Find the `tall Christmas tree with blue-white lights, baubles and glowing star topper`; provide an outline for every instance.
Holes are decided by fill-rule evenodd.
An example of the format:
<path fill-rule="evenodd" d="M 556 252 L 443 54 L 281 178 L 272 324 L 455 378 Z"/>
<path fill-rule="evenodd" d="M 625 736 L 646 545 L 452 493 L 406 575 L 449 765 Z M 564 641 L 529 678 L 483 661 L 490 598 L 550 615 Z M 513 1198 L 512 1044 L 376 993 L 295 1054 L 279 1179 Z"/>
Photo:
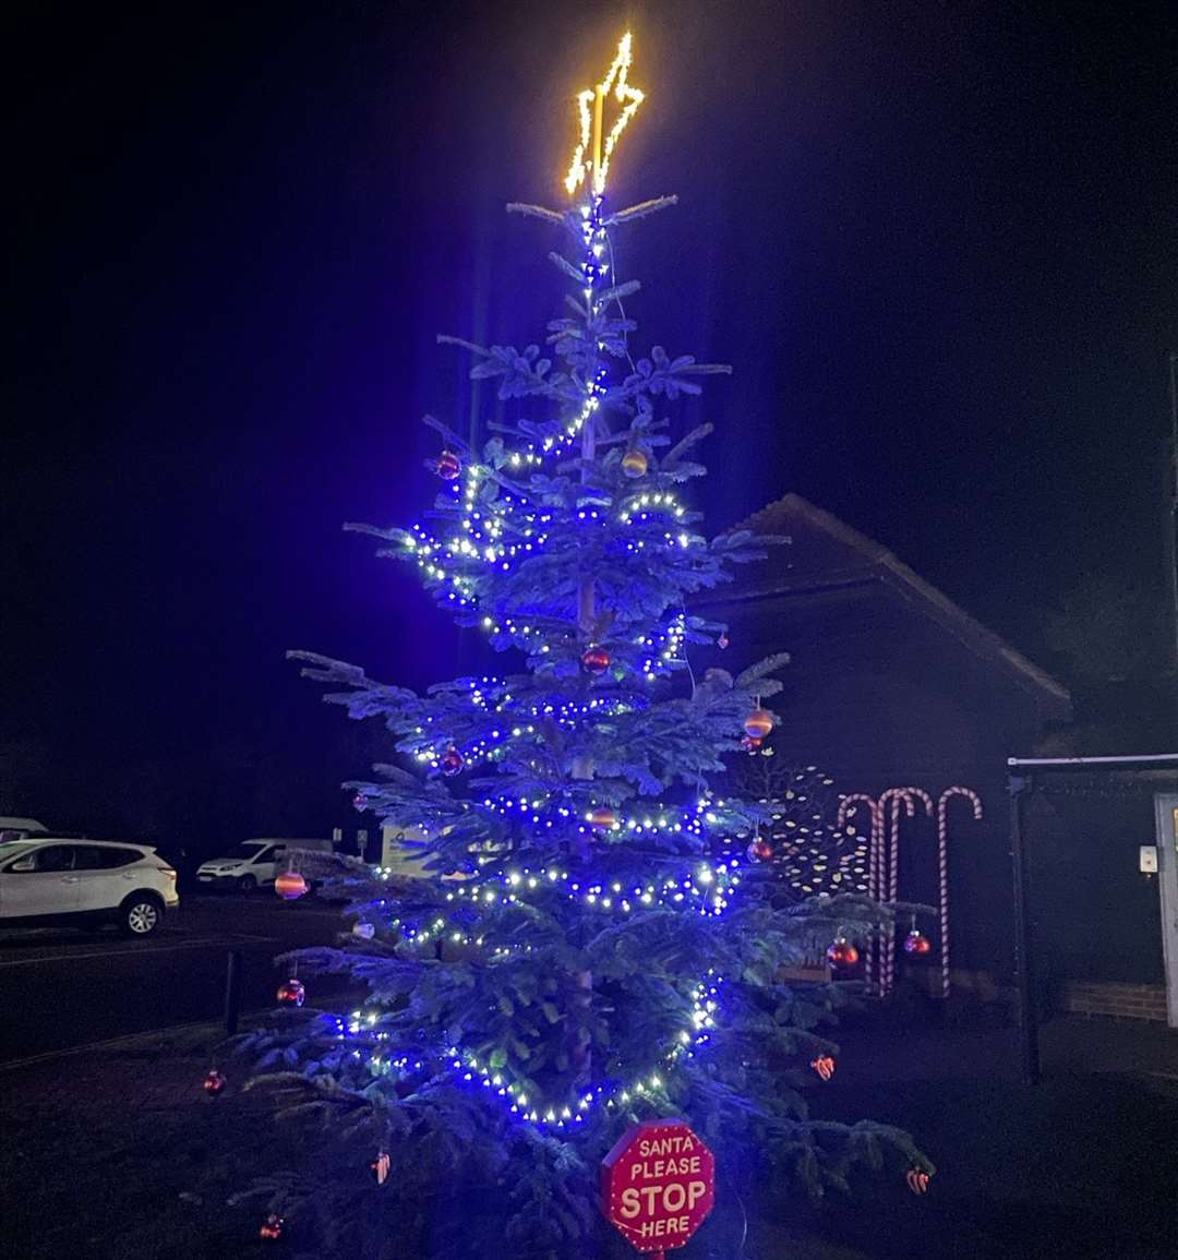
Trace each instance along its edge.
<path fill-rule="evenodd" d="M 442 339 L 514 415 L 481 449 L 427 418 L 443 484 L 425 523 L 349 527 L 416 566 L 505 668 L 420 696 L 294 654 L 394 737 L 398 760 L 349 790 L 417 837 L 421 866 L 357 866 L 350 934 L 295 960 L 350 975 L 362 1005 L 291 1012 L 248 1042 L 286 1106 L 326 1120 L 304 1167 L 260 1183 L 319 1255 L 593 1254 L 598 1163 L 644 1118 L 692 1123 L 722 1198 L 763 1189 L 766 1169 L 820 1194 L 858 1162 L 929 1167 L 897 1130 L 809 1118 L 838 992 L 780 980 L 881 908 L 791 896 L 748 853 L 771 808 L 714 786 L 742 738 L 769 735 L 786 659 L 698 674 L 724 627 L 692 596 L 776 541 L 708 541 L 685 498 L 711 426 L 678 433 L 670 404 L 728 368 L 659 345 L 631 359 L 639 284 L 614 273 L 615 234 L 674 198 L 606 198 L 643 103 L 630 57 L 627 35 L 577 98 L 569 208 L 509 207 L 564 246 L 549 349 Z M 301 1004 L 301 985 L 285 997 Z"/>

